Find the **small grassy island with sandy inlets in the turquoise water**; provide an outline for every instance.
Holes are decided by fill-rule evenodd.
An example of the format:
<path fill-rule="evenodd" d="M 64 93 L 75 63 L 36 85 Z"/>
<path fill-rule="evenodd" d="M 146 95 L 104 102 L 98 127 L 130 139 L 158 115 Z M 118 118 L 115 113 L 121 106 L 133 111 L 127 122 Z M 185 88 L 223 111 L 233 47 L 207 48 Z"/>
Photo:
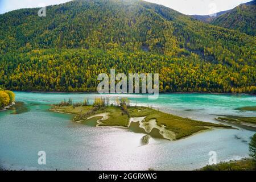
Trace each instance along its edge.
<path fill-rule="evenodd" d="M 195 121 L 163 113 L 150 107 L 130 106 L 127 98 L 118 98 L 115 104 L 109 104 L 108 98 L 95 98 L 92 105 L 88 100 L 53 105 L 51 111 L 73 114 L 73 121 L 96 127 L 122 127 L 135 133 L 145 134 L 143 143 L 148 139 L 162 138 L 178 140 L 214 127 L 232 128 L 216 123 Z"/>

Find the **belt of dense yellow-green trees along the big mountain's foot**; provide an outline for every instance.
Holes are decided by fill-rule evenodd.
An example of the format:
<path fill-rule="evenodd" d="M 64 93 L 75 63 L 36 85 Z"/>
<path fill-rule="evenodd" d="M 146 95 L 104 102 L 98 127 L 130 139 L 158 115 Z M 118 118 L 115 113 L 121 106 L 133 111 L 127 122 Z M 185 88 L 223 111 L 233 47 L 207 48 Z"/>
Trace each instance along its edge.
<path fill-rule="evenodd" d="M 13 61 L 15 60 L 15 61 Z M 101 49 L 40 49 L 6 53 L 0 63 L 0 82 L 12 90 L 97 90 L 99 73 L 160 73 L 161 92 L 255 93 L 253 65 L 212 64 L 190 56 Z"/>

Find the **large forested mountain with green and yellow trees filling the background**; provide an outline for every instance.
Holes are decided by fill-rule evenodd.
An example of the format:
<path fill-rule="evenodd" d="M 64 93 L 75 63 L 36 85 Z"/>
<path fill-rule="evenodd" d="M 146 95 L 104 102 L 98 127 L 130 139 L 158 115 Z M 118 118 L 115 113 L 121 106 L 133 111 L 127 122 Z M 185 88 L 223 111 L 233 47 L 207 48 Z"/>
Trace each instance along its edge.
<path fill-rule="evenodd" d="M 255 37 L 144 1 L 78 0 L 0 15 L 0 85 L 96 91 L 99 73 L 159 73 L 161 92 L 255 93 Z"/>

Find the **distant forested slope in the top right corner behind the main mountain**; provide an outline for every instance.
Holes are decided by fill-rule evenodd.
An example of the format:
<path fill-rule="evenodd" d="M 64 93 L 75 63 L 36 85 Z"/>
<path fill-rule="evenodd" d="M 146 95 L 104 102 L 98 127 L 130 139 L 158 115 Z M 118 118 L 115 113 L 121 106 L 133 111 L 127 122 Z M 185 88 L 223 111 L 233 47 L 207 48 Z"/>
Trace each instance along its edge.
<path fill-rule="evenodd" d="M 212 24 L 256 35 L 256 0 L 237 6 L 213 19 Z"/>

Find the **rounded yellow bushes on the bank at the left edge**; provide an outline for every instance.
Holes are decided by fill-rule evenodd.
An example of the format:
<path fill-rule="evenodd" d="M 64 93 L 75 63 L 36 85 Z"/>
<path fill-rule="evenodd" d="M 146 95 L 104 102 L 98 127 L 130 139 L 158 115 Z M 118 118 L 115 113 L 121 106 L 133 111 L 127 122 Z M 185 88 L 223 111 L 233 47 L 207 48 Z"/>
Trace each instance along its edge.
<path fill-rule="evenodd" d="M 10 90 L 0 88 L 0 110 L 10 106 L 15 101 L 15 94 Z"/>

